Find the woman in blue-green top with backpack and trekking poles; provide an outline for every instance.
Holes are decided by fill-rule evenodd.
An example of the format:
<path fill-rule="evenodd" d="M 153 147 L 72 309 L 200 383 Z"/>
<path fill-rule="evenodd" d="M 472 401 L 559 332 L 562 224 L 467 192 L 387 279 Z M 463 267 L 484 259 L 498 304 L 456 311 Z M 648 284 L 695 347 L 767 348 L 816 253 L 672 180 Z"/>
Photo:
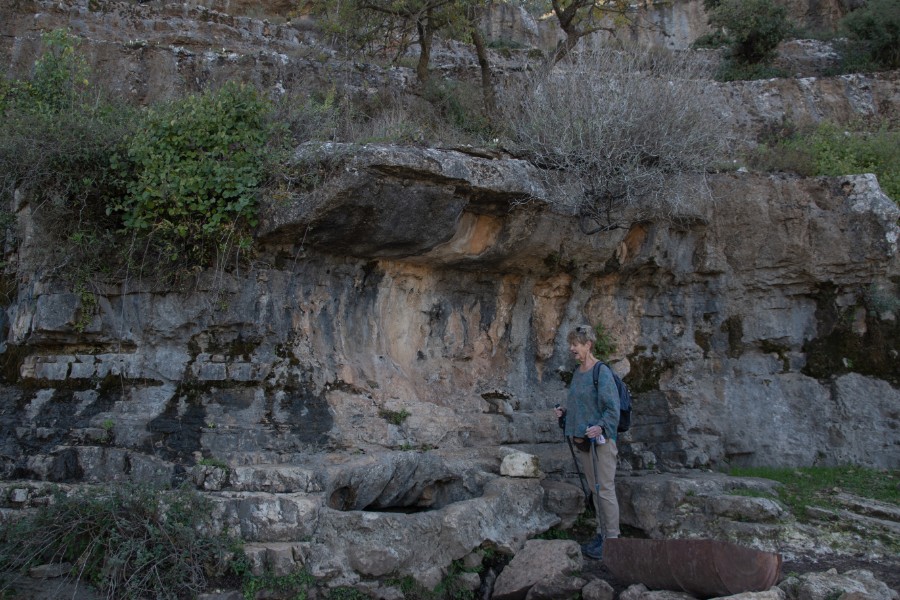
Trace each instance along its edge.
<path fill-rule="evenodd" d="M 569 332 L 567 340 L 578 368 L 572 374 L 566 407 L 557 405 L 556 417 L 565 415 L 565 434 L 578 448 L 578 460 L 593 492 L 597 536 L 581 550 L 589 558 L 600 559 L 603 540 L 619 537 L 615 485 L 619 393 L 609 367 L 594 357 L 594 329 L 579 325 Z"/>

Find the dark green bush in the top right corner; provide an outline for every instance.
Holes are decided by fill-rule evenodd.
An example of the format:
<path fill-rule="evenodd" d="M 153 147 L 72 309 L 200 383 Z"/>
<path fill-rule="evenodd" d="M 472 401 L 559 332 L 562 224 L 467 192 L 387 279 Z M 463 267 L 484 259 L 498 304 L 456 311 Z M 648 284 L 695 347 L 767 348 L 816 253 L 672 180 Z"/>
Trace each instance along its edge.
<path fill-rule="evenodd" d="M 900 3 L 869 0 L 841 21 L 853 45 L 849 58 L 883 69 L 900 68 Z"/>

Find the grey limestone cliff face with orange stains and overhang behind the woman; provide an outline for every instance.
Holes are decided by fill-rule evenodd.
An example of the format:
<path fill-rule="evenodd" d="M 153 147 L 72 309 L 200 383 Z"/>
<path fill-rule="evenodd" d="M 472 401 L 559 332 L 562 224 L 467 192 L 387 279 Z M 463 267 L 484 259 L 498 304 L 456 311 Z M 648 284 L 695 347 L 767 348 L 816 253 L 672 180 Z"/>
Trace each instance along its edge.
<path fill-rule="evenodd" d="M 75 295 L 23 282 L 6 476 L 510 444 L 552 471 L 583 322 L 636 392 L 634 467 L 900 464 L 900 213 L 872 177 L 719 175 L 689 220 L 588 237 L 521 161 L 329 148 L 338 175 L 266 209 L 250 270 L 106 290 L 81 334 Z"/>

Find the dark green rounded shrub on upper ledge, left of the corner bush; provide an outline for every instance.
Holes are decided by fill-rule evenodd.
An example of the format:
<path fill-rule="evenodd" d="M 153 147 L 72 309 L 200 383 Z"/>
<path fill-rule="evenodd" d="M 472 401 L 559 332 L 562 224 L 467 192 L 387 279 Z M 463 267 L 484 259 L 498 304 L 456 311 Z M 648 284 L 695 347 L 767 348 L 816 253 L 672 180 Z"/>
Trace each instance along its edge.
<path fill-rule="evenodd" d="M 750 64 L 771 60 L 792 29 L 787 9 L 774 0 L 722 0 L 709 23 L 725 35 L 731 58 Z"/>

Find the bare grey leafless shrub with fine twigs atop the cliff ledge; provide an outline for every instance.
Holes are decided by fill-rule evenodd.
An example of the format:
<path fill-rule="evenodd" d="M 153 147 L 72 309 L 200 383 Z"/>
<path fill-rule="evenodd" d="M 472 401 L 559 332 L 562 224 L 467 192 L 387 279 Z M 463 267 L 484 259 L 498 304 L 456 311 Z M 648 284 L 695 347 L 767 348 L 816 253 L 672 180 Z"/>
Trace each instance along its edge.
<path fill-rule="evenodd" d="M 606 47 L 511 89 L 511 149 L 542 168 L 585 233 L 683 215 L 705 198 L 722 129 L 705 66 L 686 53 Z"/>

